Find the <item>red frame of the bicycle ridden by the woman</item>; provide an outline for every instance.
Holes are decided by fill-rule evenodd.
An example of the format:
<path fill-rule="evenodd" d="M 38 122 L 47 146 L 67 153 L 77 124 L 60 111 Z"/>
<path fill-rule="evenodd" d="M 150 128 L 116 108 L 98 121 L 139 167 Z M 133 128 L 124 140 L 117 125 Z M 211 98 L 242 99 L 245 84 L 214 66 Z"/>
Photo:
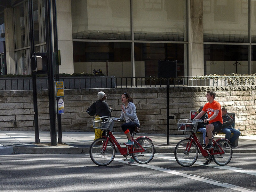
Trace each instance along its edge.
<path fill-rule="evenodd" d="M 103 138 L 107 138 L 106 143 L 103 143 L 103 146 L 102 146 L 103 150 L 106 150 L 106 146 L 107 146 L 106 144 L 108 143 L 108 141 L 110 141 L 114 145 L 115 148 L 117 147 L 117 149 L 119 150 L 119 152 L 123 156 L 125 156 L 125 155 L 127 156 L 127 155 L 129 155 L 131 153 L 142 153 L 142 152 L 145 152 L 145 149 L 137 141 L 139 138 L 147 138 L 148 140 L 151 140 L 149 137 L 145 137 L 145 136 L 140 136 L 140 137 L 136 138 L 134 140 L 134 145 L 139 146 L 139 148 L 134 148 L 134 151 L 132 151 L 132 148 L 133 148 L 134 145 L 126 146 L 126 148 L 121 147 L 119 142 L 116 140 L 115 136 L 113 135 L 113 133 L 111 131 L 108 131 L 107 137 L 103 136 Z M 133 138 L 133 135 L 132 135 L 132 138 Z"/>

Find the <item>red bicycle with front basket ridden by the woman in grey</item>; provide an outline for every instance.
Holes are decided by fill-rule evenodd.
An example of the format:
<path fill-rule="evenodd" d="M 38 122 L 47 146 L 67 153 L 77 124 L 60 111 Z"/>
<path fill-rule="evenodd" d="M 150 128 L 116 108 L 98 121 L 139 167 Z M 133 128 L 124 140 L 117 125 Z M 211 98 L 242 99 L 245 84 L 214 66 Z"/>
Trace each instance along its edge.
<path fill-rule="evenodd" d="M 116 155 L 116 148 L 125 157 L 131 155 L 139 164 L 149 163 L 155 155 L 155 147 L 149 137 L 140 136 L 134 140 L 134 145 L 121 147 L 113 135 L 113 126 L 115 121 L 120 119 L 115 117 L 95 117 L 93 128 L 106 130 L 106 137 L 94 140 L 90 147 L 90 157 L 92 162 L 99 166 L 110 164 Z M 136 132 L 132 133 L 132 139 Z"/>

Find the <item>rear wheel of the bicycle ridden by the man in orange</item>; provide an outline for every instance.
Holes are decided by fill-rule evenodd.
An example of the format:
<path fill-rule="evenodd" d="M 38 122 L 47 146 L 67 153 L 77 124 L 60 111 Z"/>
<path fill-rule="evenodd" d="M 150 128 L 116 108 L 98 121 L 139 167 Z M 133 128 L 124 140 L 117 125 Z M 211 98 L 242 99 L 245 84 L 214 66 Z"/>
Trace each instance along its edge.
<path fill-rule="evenodd" d="M 230 143 L 225 139 L 220 139 L 216 142 L 220 145 L 220 147 L 223 149 L 223 151 L 225 153 L 213 155 L 213 161 L 217 165 L 226 165 L 230 162 L 230 160 L 232 158 L 232 154 L 233 154 L 232 147 L 231 147 Z M 220 150 L 219 146 L 217 144 L 214 144 L 213 153 L 218 153 L 220 151 L 221 150 Z"/>

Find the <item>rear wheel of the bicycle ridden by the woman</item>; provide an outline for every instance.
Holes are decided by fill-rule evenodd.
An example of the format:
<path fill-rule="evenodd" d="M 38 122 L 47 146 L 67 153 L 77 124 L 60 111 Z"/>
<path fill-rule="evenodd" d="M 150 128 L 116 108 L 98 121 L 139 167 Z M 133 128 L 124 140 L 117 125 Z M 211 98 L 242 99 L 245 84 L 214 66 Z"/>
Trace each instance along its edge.
<path fill-rule="evenodd" d="M 155 155 L 155 147 L 154 144 L 151 140 L 149 140 L 148 138 L 139 138 L 138 143 L 140 143 L 141 147 L 143 147 L 145 149 L 144 152 L 138 152 L 138 153 L 132 153 L 132 157 L 133 159 L 139 163 L 139 164 L 147 164 L 149 163 L 154 155 Z M 138 146 L 138 144 L 136 144 L 136 142 L 134 142 L 135 144 L 132 147 L 132 151 L 136 151 L 136 150 L 140 150 L 141 148 Z"/>

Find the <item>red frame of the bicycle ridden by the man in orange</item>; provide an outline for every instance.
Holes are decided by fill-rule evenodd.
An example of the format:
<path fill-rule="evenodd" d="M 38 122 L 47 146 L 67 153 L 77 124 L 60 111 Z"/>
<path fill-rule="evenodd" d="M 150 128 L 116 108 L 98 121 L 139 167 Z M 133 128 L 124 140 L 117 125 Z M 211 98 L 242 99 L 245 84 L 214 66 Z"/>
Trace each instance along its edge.
<path fill-rule="evenodd" d="M 212 139 L 213 146 L 217 145 L 217 147 L 220 149 L 219 152 L 215 152 L 215 153 L 213 153 L 213 148 L 209 149 L 209 150 L 204 149 L 203 146 L 201 145 L 200 141 L 196 137 L 196 134 L 194 132 L 191 132 L 190 133 L 190 137 L 187 138 L 187 139 L 191 140 L 191 142 L 189 142 L 189 146 L 187 146 L 187 148 L 188 148 L 187 150 L 189 151 L 189 149 L 191 148 L 191 145 L 192 145 L 192 141 L 194 141 L 196 143 L 196 147 L 199 149 L 199 151 L 201 152 L 202 156 L 204 156 L 204 157 L 207 157 L 207 156 L 210 156 L 210 155 L 217 155 L 217 154 L 221 155 L 221 154 L 225 153 L 225 151 L 220 147 L 220 145 L 217 142 L 221 138 L 216 140 L 216 141 L 214 139 Z"/>

